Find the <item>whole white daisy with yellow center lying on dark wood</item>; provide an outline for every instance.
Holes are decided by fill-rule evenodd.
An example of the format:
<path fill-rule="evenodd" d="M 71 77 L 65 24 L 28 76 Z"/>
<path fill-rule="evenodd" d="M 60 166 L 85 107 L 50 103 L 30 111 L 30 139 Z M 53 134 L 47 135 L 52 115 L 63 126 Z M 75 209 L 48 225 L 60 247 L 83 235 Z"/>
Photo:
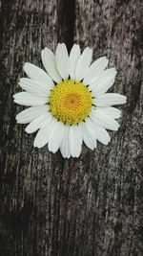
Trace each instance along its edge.
<path fill-rule="evenodd" d="M 29 78 L 22 78 L 19 85 L 25 91 L 16 93 L 14 102 L 28 105 L 16 116 L 17 123 L 30 123 L 28 133 L 38 130 L 33 146 L 49 151 L 60 149 L 63 157 L 78 157 L 82 143 L 93 150 L 96 141 L 107 145 L 111 138 L 107 131 L 117 130 L 115 119 L 121 111 L 112 105 L 123 105 L 126 97 L 107 93 L 116 71 L 107 68 L 106 57 L 92 62 L 92 49 L 81 54 L 77 44 L 70 56 L 64 43 L 57 45 L 55 55 L 49 48 L 42 53 L 47 72 L 26 62 L 24 71 Z M 92 64 L 91 64 L 92 62 Z"/>

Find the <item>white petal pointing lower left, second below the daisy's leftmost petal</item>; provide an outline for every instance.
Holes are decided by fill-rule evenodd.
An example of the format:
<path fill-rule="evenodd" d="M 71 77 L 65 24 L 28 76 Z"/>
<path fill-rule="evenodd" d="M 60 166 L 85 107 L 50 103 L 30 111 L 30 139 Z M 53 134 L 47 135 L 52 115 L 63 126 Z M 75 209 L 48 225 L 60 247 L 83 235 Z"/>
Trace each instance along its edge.
<path fill-rule="evenodd" d="M 44 113 L 31 121 L 30 125 L 25 129 L 28 133 L 36 131 L 38 128 L 44 128 L 51 121 L 51 114 Z"/>

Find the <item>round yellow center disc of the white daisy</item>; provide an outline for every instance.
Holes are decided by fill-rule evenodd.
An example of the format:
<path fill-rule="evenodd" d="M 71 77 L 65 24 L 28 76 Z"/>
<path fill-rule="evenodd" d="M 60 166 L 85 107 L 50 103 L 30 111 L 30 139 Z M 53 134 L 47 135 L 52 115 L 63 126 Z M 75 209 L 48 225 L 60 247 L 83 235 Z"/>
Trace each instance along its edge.
<path fill-rule="evenodd" d="M 60 81 L 53 87 L 49 103 L 55 118 L 67 125 L 75 125 L 91 112 L 92 93 L 83 82 Z"/>

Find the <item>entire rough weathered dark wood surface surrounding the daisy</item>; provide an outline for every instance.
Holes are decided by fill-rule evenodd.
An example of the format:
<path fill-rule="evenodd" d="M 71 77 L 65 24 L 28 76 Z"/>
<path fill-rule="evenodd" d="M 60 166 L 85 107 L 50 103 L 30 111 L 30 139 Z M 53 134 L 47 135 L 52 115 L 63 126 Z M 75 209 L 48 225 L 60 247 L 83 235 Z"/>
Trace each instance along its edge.
<path fill-rule="evenodd" d="M 128 96 L 110 145 L 63 159 L 16 125 L 22 65 L 57 41 L 93 48 Z M 141 1 L 1 0 L 0 255 L 141 256 Z"/>

